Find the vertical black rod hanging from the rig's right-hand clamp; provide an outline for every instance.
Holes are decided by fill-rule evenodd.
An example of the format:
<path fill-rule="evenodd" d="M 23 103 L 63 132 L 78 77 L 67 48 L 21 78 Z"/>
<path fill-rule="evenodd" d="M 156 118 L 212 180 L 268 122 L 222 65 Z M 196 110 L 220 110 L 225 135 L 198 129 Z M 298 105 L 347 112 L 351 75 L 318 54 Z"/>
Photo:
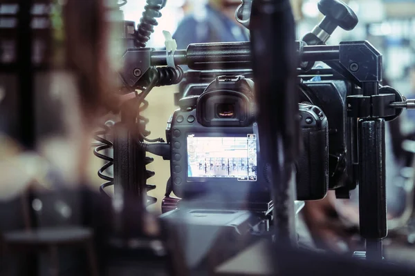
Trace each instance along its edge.
<path fill-rule="evenodd" d="M 367 258 L 380 260 L 387 235 L 385 119 L 360 119 L 358 129 L 360 235 L 367 241 Z"/>

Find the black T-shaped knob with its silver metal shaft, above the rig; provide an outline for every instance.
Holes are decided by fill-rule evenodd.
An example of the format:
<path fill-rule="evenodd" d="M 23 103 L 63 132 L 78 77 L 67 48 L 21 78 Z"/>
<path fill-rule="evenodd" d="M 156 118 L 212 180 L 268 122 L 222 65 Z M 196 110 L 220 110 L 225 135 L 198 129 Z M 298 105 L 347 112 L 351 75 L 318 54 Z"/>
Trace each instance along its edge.
<path fill-rule="evenodd" d="M 356 14 L 341 0 L 320 0 L 317 6 L 325 17 L 303 37 L 302 41 L 307 45 L 326 43 L 338 26 L 344 30 L 353 30 L 358 25 L 359 19 Z"/>

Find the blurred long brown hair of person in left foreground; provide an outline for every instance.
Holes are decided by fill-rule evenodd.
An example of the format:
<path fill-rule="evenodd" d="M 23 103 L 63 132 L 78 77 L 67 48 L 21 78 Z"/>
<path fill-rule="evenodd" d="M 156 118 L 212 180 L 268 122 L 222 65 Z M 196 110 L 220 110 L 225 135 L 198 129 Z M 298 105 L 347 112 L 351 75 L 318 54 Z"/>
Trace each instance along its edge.
<path fill-rule="evenodd" d="M 116 74 L 109 56 L 110 24 L 104 0 L 68 0 L 64 7 L 66 66 L 77 81 L 82 117 L 116 108 Z"/>

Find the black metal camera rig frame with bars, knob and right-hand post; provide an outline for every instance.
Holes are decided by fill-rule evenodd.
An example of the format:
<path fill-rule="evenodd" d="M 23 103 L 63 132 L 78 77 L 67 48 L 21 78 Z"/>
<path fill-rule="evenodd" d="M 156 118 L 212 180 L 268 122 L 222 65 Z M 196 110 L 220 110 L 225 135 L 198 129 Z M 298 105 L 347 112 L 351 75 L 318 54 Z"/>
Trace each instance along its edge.
<path fill-rule="evenodd" d="M 250 1 L 245 1 L 250 2 Z M 259 5 L 266 6 L 261 1 L 253 1 L 251 21 L 255 18 L 255 3 L 257 3 L 257 14 Z M 264 1 L 266 2 L 266 1 Z M 243 3 L 245 4 L 245 3 Z M 242 4 L 242 6 L 243 6 Z M 180 65 L 186 65 L 191 70 L 223 70 L 221 75 L 233 70 L 246 70 L 255 73 L 260 70 L 268 70 L 271 66 L 260 67 L 252 63 L 255 59 L 263 57 L 259 55 L 257 46 L 254 42 L 237 43 L 193 43 L 186 50 L 176 50 L 174 47 L 167 50 L 154 50 L 145 48 L 149 40 L 153 27 L 156 25 L 156 17 L 160 17 L 160 9 L 165 6 L 162 0 L 147 0 L 147 6 L 143 13 L 138 30 L 133 34 L 127 32 L 129 28 L 134 28 L 131 21 L 124 22 L 124 41 L 127 50 L 122 56 L 124 66 L 120 71 L 120 79 L 129 92 L 137 88 L 142 89 L 142 93 L 134 101 L 143 104 L 137 113 L 129 114 L 121 110 L 121 121 L 114 126 L 113 143 L 97 136 L 102 143 L 100 148 L 95 149 L 95 155 L 109 161 L 99 172 L 99 175 L 108 180 L 103 184 L 104 187 L 111 184 L 120 184 L 124 193 L 141 197 L 148 190 L 155 188 L 147 184 L 147 179 L 154 175 L 145 169 L 152 159 L 146 157 L 146 151 L 169 159 L 168 144 L 157 144 L 143 146 L 149 132 L 145 130 L 147 119 L 139 113 L 143 108 L 147 108 L 148 102 L 145 96 L 154 86 L 166 86 L 180 83 L 185 76 Z M 343 78 L 351 83 L 353 93 L 347 95 L 347 117 L 354 133 L 351 148 L 351 159 L 353 164 L 354 186 L 339 187 L 336 191 L 338 197 L 347 198 L 349 190 L 359 186 L 360 193 L 360 233 L 367 240 L 366 253 L 356 253 L 358 257 L 371 259 L 382 259 L 382 238 L 387 235 L 386 200 L 385 200 L 385 121 L 395 119 L 400 115 L 403 108 L 411 108 L 413 103 L 407 101 L 403 95 L 393 88 L 381 86 L 382 81 L 382 55 L 368 41 L 343 41 L 339 45 L 325 45 L 330 34 L 340 26 L 344 30 L 351 30 L 358 23 L 356 14 L 340 0 L 321 0 L 319 9 L 325 15 L 324 19 L 316 26 L 312 32 L 306 34 L 301 41 L 287 43 L 284 47 L 277 50 L 292 48 L 295 55 L 299 57 L 297 63 L 297 73 L 299 77 L 322 76 L 329 79 Z M 237 11 L 238 13 L 238 11 Z M 250 25 L 251 35 L 259 33 L 257 23 L 244 21 L 244 25 Z M 279 26 L 278 28 L 282 28 Z M 270 30 L 267 30 L 270 32 Z M 278 30 L 275 30 L 278 31 Z M 282 31 L 282 30 L 281 30 Z M 257 34 L 258 35 L 258 34 Z M 255 35 L 252 35 L 254 38 Z M 294 39 L 293 39 L 294 40 Z M 267 41 L 266 41 L 267 42 Z M 269 42 L 269 41 L 268 41 Z M 281 44 L 280 41 L 271 41 L 274 45 Z M 294 42 L 294 41 L 293 41 Z M 279 43 L 279 44 L 278 44 Z M 253 49 L 253 50 L 252 50 Z M 275 50 L 275 51 L 277 51 Z M 275 52 L 267 52 L 267 55 L 276 55 Z M 273 60 L 273 59 L 270 59 Z M 313 69 L 316 61 L 326 63 L 331 69 Z M 291 61 L 292 62 L 292 61 Z M 167 67 L 157 67 L 167 66 Z M 282 64 L 284 66 L 284 64 Z M 261 68 L 261 69 L 258 69 Z M 276 70 L 275 75 L 281 73 Z M 268 71 L 268 75 L 269 75 Z M 257 75 L 258 76 L 258 75 Z M 333 77 L 335 76 L 335 77 Z M 284 76 L 282 76 L 284 77 Z M 268 81 L 270 79 L 268 78 Z M 259 80 L 261 88 L 261 79 Z M 263 92 L 261 90 L 261 92 Z M 265 97 L 265 95 L 264 95 Z M 290 95 L 286 97 L 291 97 Z M 288 99 L 288 98 L 287 98 Z M 295 115 L 293 110 L 292 115 Z M 259 122 L 259 124 L 261 124 Z M 136 128 L 131 128 L 136 125 Z M 108 130 L 108 127 L 105 127 Z M 284 127 L 283 127 L 284 128 Z M 132 131 L 131 129 L 136 129 Z M 138 131 L 137 131 L 138 130 Z M 284 132 L 284 129 L 280 129 Z M 277 130 L 277 131 L 280 131 Z M 139 132 L 139 133 L 137 133 Z M 102 135 L 104 132 L 98 132 Z M 140 143 L 137 143 L 140 141 Z M 294 143 L 295 144 L 295 143 Z M 98 153 L 113 146 L 113 159 Z M 295 149 L 291 144 L 289 150 L 284 152 L 295 155 Z M 294 152 L 294 153 L 293 153 Z M 289 158 L 288 158 L 289 159 Z M 114 178 L 103 175 L 105 169 L 114 165 Z M 139 169 L 136 169 L 139 168 Z M 273 212 L 275 219 L 279 220 L 277 228 L 280 235 L 288 235 L 288 213 L 286 196 L 288 189 L 287 182 L 289 172 L 281 172 L 286 175 L 282 182 L 285 184 L 273 184 Z M 281 178 L 279 178 L 281 179 Z M 277 181 L 278 182 L 278 181 Z M 116 185 L 116 191 L 118 190 Z M 282 193 L 279 193 L 281 192 Z M 154 203 L 154 198 L 148 198 L 147 203 Z M 166 201 L 166 204 L 175 206 L 176 200 Z"/>

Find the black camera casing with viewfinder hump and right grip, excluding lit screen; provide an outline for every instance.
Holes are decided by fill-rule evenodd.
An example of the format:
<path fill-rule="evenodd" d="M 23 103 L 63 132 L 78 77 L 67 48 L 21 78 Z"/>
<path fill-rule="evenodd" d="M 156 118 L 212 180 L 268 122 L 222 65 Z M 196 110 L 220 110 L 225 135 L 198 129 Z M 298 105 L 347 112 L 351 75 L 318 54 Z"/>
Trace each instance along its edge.
<path fill-rule="evenodd" d="M 246 72 L 249 75 L 249 72 Z M 212 72 L 208 73 L 212 76 Z M 203 76 L 195 73 L 196 78 Z M 190 170 L 187 157 L 187 137 L 247 137 L 257 135 L 255 108 L 253 101 L 253 82 L 241 75 L 216 77 L 201 95 L 194 96 L 190 86 L 184 91 L 187 97 L 178 104 L 167 127 L 167 142 L 171 145 L 171 179 L 173 191 L 178 197 L 192 201 L 245 202 L 248 206 L 253 202 L 269 202 L 270 200 L 270 167 L 261 160 L 261 152 L 257 139 L 257 179 L 241 181 L 227 177 L 194 178 L 187 174 Z M 196 88 L 199 90 L 200 88 Z M 189 93 L 189 94 L 187 94 Z M 215 110 L 219 104 L 233 106 L 234 115 L 228 118 L 217 117 Z M 329 188 L 329 126 L 324 112 L 311 104 L 299 104 L 299 120 L 304 138 L 304 150 L 297 162 L 297 199 L 317 200 L 325 197 Z M 230 172 L 230 163 L 219 164 Z M 215 161 L 214 161 L 215 162 Z M 232 161 L 234 162 L 234 161 Z M 203 165 L 204 163 L 204 165 Z M 226 163 L 226 161 L 225 161 Z M 206 161 L 199 168 L 208 168 Z M 233 163 L 234 164 L 234 163 Z M 200 167 L 203 166 L 203 167 Z M 217 164 L 214 166 L 218 166 Z M 248 166 L 249 168 L 249 166 Z M 217 168 L 214 167 L 217 171 Z M 191 171 L 191 170 L 190 170 Z M 250 171 L 248 169 L 248 171 Z M 207 171 L 206 171 L 207 172 Z M 210 161 L 212 172 L 212 159 Z M 192 175 L 192 173 L 190 173 Z M 213 199 L 212 199 L 213 197 Z M 234 204 L 231 204 L 234 206 Z"/>

